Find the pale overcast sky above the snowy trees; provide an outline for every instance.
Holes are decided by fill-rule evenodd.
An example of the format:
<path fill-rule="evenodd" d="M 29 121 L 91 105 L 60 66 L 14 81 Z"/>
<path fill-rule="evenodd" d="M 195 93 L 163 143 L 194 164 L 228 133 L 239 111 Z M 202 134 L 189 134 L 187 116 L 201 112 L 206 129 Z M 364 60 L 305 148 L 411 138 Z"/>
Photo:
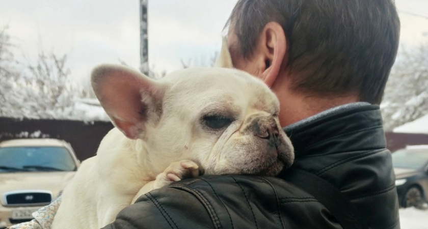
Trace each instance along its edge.
<path fill-rule="evenodd" d="M 148 0 L 149 66 L 168 72 L 208 62 L 219 50 L 223 26 L 236 0 Z M 396 0 L 402 43 L 428 39 L 428 1 Z M 0 0 L 0 28 L 17 58 L 40 50 L 69 55 L 76 79 L 87 80 L 100 63 L 140 64 L 139 0 Z"/>

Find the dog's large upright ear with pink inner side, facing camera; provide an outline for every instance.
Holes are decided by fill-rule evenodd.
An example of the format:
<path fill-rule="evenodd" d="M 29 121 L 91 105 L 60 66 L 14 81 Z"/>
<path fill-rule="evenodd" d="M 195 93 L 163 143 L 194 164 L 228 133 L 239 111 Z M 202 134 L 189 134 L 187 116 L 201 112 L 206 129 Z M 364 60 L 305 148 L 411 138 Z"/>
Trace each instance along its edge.
<path fill-rule="evenodd" d="M 163 84 L 119 65 L 94 68 L 91 83 L 113 124 L 128 138 L 138 138 L 148 122 L 161 118 Z"/>

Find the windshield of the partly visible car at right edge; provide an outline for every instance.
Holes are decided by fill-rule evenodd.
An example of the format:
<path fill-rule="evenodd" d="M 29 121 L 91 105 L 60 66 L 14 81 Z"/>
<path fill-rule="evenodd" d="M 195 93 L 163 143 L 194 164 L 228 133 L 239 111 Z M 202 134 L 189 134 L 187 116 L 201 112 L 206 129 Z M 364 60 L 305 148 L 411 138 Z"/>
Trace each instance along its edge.
<path fill-rule="evenodd" d="M 394 167 L 420 169 L 427 161 L 427 149 L 402 149 L 392 153 Z"/>

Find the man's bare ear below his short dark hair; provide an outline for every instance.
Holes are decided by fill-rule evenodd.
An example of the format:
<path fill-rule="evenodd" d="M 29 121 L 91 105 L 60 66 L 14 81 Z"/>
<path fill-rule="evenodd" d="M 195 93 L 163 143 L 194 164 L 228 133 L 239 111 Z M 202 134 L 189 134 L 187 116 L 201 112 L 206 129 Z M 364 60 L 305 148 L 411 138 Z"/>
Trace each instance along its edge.
<path fill-rule="evenodd" d="M 278 77 L 281 65 L 287 56 L 287 42 L 282 26 L 278 22 L 269 22 L 263 28 L 258 41 L 258 51 L 263 54 L 264 71 L 261 78 L 269 87 Z"/>

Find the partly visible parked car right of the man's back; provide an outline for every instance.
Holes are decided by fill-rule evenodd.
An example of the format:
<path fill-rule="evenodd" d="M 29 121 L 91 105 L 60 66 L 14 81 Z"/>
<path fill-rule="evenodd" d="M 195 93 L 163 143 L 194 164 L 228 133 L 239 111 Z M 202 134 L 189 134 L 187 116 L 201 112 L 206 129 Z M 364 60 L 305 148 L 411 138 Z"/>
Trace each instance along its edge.
<path fill-rule="evenodd" d="M 392 164 L 400 207 L 422 208 L 428 200 L 428 145 L 393 152 Z"/>

